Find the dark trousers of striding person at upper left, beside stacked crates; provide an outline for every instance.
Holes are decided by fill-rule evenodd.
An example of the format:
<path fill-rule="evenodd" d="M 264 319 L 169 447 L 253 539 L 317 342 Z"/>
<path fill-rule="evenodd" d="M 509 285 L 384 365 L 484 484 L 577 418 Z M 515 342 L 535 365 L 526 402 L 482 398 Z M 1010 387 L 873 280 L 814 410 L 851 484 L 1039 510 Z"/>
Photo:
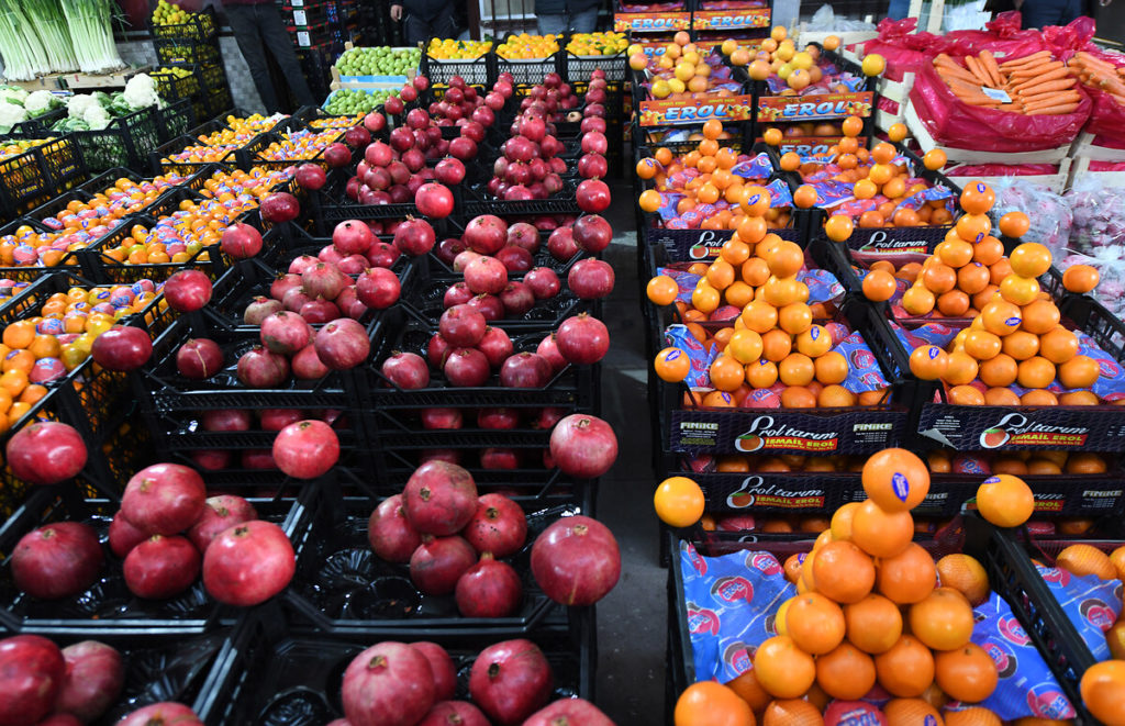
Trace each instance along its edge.
<path fill-rule="evenodd" d="M 250 76 L 254 79 L 254 87 L 266 106 L 267 114 L 277 114 L 281 110 L 277 90 L 270 79 L 270 69 L 266 63 L 266 48 L 277 61 L 281 73 L 289 84 L 289 89 L 297 98 L 298 106 L 316 106 L 313 92 L 308 90 L 305 74 L 297 62 L 297 54 L 292 51 L 292 38 L 285 29 L 281 20 L 281 12 L 273 3 L 260 4 L 232 4 L 226 7 L 226 18 L 234 31 L 234 37 L 238 42 L 238 48 L 246 65 L 250 66 Z M 236 103 L 237 106 L 237 103 Z"/>

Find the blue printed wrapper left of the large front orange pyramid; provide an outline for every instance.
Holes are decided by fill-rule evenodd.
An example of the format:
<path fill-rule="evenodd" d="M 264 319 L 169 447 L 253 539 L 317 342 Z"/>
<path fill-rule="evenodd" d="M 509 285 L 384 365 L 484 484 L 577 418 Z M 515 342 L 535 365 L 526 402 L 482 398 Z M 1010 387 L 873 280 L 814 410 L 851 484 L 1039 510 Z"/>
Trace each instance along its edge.
<path fill-rule="evenodd" d="M 732 681 L 750 670 L 754 651 L 776 635 L 774 616 L 796 588 L 768 552 L 704 557 L 685 542 L 680 568 L 695 679 Z"/>

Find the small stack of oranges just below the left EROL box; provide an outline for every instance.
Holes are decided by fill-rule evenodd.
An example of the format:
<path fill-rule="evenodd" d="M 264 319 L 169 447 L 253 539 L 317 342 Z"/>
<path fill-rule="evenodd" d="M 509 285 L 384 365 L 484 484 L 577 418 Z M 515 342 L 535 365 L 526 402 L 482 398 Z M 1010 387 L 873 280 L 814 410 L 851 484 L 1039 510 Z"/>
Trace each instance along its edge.
<path fill-rule="evenodd" d="M 655 189 L 640 193 L 640 208 L 655 212 L 663 203 L 660 192 L 675 192 L 683 197 L 676 202 L 677 217 L 666 223 L 669 228 L 677 228 L 680 223 L 683 223 L 681 228 L 688 229 L 737 230 L 744 224 L 756 229 L 762 221 L 766 227 L 788 226 L 788 209 L 767 208 L 760 219 L 752 219 L 752 215 L 747 214 L 742 200 L 748 194 L 765 190 L 757 184 L 748 184 L 749 180 L 730 171 L 748 157 L 739 155 L 730 146 L 719 145 L 721 139 L 728 137 L 729 133 L 722 124 L 710 119 L 703 124 L 702 138 L 695 151 L 677 157 L 670 149 L 660 147 L 654 156 L 640 160 L 637 175 L 646 181 L 652 180 L 655 184 Z M 768 203 L 768 193 L 766 200 Z M 747 234 L 753 237 L 749 232 Z"/>

